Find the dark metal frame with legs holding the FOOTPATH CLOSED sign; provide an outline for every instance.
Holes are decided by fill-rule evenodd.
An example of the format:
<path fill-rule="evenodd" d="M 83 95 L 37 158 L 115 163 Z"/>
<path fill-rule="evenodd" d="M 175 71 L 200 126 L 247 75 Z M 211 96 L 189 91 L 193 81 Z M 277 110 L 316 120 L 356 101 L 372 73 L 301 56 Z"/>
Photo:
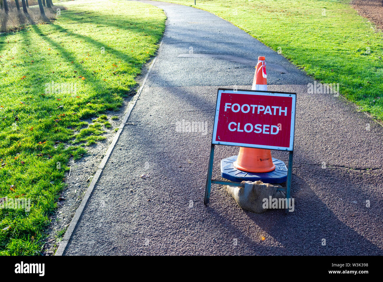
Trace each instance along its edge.
<path fill-rule="evenodd" d="M 287 182 L 286 182 L 286 188 L 278 188 L 277 191 L 285 191 L 286 192 L 286 199 L 288 200 L 288 203 L 290 203 L 290 194 L 291 194 L 291 177 L 292 177 L 292 170 L 293 170 L 293 154 L 294 154 L 294 133 L 295 133 L 295 108 L 296 108 L 296 93 L 292 92 L 278 92 L 278 91 L 259 91 L 259 90 L 243 90 L 243 89 L 229 89 L 229 88 L 219 88 L 217 91 L 217 100 L 216 100 L 216 109 L 215 109 L 215 115 L 214 115 L 214 129 L 213 129 L 213 134 L 211 136 L 211 144 L 210 144 L 210 157 L 209 157 L 209 166 L 208 166 L 208 175 L 206 179 L 206 187 L 205 187 L 205 198 L 203 203 L 207 205 L 210 202 L 210 192 L 211 192 L 211 184 L 220 184 L 220 185 L 231 185 L 231 186 L 240 186 L 241 183 L 239 182 L 233 182 L 233 181 L 224 181 L 224 180 L 216 180 L 216 179 L 211 179 L 212 174 L 213 174 L 213 160 L 214 160 L 214 147 L 215 145 L 226 145 L 226 146 L 238 146 L 238 145 L 233 145 L 233 144 L 228 144 L 224 143 L 221 144 L 219 142 L 214 143 L 214 132 L 216 132 L 216 125 L 218 123 L 218 112 L 217 112 L 217 102 L 218 102 L 218 95 L 219 91 L 234 91 L 234 92 L 239 92 L 239 91 L 245 91 L 245 92 L 262 92 L 262 93 L 278 93 L 278 94 L 288 94 L 288 95 L 294 95 L 293 99 L 293 107 L 294 107 L 294 115 L 291 115 L 291 130 L 292 130 L 292 148 L 270 148 L 270 150 L 281 150 L 281 151 L 288 151 L 289 156 L 288 156 L 288 170 L 287 170 Z M 271 95 L 271 94 L 268 94 Z M 293 96 L 292 96 L 293 97 Z M 218 107 L 219 111 L 219 107 Z M 291 137 L 291 136 L 290 136 Z M 248 144 L 247 144 L 248 145 Z M 242 146 L 242 145 L 241 145 Z M 242 147 L 249 147 L 249 146 L 242 146 Z M 250 147 L 250 148 L 260 148 L 260 149 L 265 149 L 265 147 Z M 267 148 L 268 149 L 268 148 Z M 288 208 L 285 208 L 285 213 L 288 213 Z"/>

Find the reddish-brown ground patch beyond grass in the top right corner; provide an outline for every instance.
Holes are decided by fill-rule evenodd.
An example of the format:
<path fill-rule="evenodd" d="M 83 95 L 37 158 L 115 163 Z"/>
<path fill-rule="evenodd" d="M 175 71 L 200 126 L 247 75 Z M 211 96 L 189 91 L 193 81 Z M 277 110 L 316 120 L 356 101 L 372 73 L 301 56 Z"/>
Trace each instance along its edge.
<path fill-rule="evenodd" d="M 383 0 L 352 0 L 351 5 L 359 15 L 375 23 L 377 28 L 383 29 Z"/>

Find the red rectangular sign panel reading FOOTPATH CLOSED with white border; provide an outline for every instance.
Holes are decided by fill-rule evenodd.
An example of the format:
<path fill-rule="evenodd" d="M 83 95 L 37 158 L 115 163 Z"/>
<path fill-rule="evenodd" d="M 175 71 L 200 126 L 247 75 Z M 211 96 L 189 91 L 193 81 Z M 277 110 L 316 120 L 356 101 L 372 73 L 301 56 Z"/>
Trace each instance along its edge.
<path fill-rule="evenodd" d="M 218 89 L 213 144 L 293 150 L 295 93 Z"/>

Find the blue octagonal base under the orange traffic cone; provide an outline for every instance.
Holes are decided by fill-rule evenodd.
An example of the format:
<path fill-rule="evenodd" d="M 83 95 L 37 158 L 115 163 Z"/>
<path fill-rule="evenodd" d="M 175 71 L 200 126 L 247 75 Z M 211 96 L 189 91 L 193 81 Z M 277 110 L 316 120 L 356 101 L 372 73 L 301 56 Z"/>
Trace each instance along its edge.
<path fill-rule="evenodd" d="M 233 163 L 237 160 L 238 156 L 231 156 L 221 160 L 221 176 L 230 181 L 258 181 L 262 180 L 264 183 L 283 183 L 287 180 L 287 167 L 284 162 L 276 158 L 273 159 L 275 170 L 265 173 L 244 172 L 234 167 Z"/>

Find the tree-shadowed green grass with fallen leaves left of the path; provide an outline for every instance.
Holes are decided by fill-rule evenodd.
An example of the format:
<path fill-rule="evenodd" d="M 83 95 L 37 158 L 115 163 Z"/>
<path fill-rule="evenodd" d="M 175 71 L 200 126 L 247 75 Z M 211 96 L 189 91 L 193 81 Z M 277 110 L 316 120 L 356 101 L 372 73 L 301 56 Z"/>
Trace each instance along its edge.
<path fill-rule="evenodd" d="M 29 212 L 0 209 L 1 255 L 40 254 L 69 158 L 105 138 L 106 110 L 129 97 L 165 28 L 143 3 L 64 5 L 52 24 L 0 36 L 0 197 L 31 199 Z M 47 91 L 52 81 L 76 91 Z"/>

